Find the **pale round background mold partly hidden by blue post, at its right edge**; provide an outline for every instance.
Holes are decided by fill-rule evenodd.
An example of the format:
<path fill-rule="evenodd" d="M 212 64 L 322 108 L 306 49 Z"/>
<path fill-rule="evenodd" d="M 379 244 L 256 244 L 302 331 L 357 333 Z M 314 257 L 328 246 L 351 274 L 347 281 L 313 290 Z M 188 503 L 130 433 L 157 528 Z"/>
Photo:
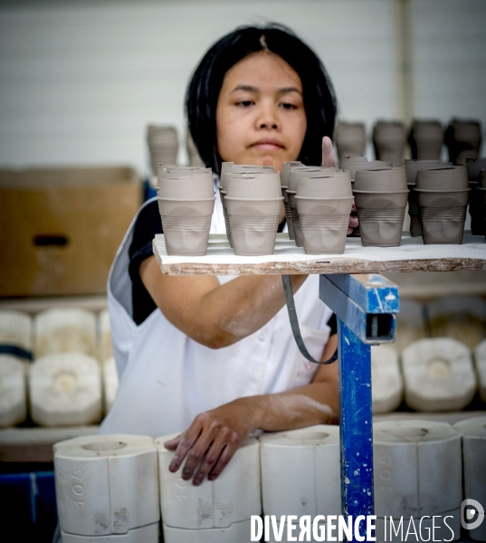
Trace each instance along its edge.
<path fill-rule="evenodd" d="M 404 382 L 398 353 L 387 345 L 371 347 L 373 413 L 389 413 L 402 402 Z"/>

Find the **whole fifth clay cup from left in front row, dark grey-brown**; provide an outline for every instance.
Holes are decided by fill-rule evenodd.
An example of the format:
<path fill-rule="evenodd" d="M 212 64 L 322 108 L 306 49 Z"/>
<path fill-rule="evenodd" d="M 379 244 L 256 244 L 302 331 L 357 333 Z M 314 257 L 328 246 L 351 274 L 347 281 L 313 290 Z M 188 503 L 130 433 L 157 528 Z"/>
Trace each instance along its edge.
<path fill-rule="evenodd" d="M 464 165 L 419 170 L 415 192 L 424 244 L 462 243 L 470 190 Z"/>

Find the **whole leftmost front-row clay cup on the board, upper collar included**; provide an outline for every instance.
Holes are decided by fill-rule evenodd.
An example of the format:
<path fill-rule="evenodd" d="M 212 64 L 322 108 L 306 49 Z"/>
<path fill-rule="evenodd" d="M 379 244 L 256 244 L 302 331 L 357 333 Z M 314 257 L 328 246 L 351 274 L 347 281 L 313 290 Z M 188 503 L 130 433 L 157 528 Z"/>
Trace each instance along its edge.
<path fill-rule="evenodd" d="M 167 254 L 205 255 L 214 200 L 211 168 L 159 165 L 157 203 Z"/>

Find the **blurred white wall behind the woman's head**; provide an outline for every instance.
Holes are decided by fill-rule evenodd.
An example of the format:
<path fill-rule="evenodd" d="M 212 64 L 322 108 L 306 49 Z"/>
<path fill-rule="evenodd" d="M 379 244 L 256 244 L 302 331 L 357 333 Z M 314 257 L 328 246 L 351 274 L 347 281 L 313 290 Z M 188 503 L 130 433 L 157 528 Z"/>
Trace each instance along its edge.
<path fill-rule="evenodd" d="M 3 3 L 0 167 L 123 163 L 145 173 L 146 125 L 175 124 L 182 136 L 186 84 L 208 46 L 239 24 L 267 20 L 310 43 L 341 118 L 369 129 L 401 111 L 397 1 Z M 484 119 L 486 2 L 412 2 L 416 113 Z"/>

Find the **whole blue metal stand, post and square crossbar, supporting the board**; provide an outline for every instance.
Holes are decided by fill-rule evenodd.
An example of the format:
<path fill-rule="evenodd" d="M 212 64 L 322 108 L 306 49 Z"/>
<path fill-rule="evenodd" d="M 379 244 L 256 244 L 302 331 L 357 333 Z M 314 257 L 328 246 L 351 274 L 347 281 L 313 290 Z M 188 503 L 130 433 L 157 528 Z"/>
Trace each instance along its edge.
<path fill-rule="evenodd" d="M 374 514 L 370 345 L 395 340 L 398 287 L 376 274 L 321 275 L 319 297 L 338 317 L 341 510 L 354 521 Z"/>

